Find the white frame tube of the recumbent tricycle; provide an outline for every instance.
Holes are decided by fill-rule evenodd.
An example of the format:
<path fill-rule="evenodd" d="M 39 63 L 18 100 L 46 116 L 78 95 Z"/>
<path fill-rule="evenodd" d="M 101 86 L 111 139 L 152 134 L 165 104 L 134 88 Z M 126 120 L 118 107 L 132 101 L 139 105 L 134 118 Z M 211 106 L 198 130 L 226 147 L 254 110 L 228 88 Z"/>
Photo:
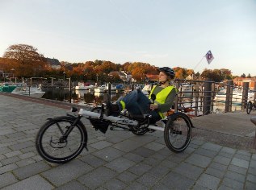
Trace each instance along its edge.
<path fill-rule="evenodd" d="M 105 114 L 101 114 L 101 113 L 94 113 L 91 111 L 87 111 L 85 109 L 80 109 L 78 112 L 78 115 L 81 115 L 85 118 L 95 118 L 95 119 L 99 119 L 99 120 L 107 120 L 115 125 L 125 125 L 125 126 L 138 126 L 139 122 L 137 122 L 136 120 L 132 120 L 132 119 L 128 119 L 128 118 L 121 118 L 121 117 L 115 117 L 115 116 L 107 116 Z M 160 131 L 164 131 L 165 128 L 164 127 L 160 127 L 160 126 L 154 126 L 154 125 L 149 125 L 148 126 L 149 129 L 152 130 L 160 130 Z"/>

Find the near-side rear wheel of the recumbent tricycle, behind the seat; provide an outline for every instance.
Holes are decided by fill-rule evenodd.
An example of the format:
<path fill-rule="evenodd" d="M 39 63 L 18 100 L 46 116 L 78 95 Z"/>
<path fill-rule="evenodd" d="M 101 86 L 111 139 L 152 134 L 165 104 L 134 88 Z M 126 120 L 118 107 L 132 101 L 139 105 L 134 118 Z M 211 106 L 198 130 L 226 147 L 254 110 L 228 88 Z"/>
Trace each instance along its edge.
<path fill-rule="evenodd" d="M 177 153 L 184 151 L 191 142 L 191 136 L 192 122 L 190 118 L 188 118 L 186 114 L 180 112 L 171 114 L 167 119 L 164 130 L 166 146 L 170 151 Z M 180 145 L 176 143 L 179 140 L 183 141 Z"/>

